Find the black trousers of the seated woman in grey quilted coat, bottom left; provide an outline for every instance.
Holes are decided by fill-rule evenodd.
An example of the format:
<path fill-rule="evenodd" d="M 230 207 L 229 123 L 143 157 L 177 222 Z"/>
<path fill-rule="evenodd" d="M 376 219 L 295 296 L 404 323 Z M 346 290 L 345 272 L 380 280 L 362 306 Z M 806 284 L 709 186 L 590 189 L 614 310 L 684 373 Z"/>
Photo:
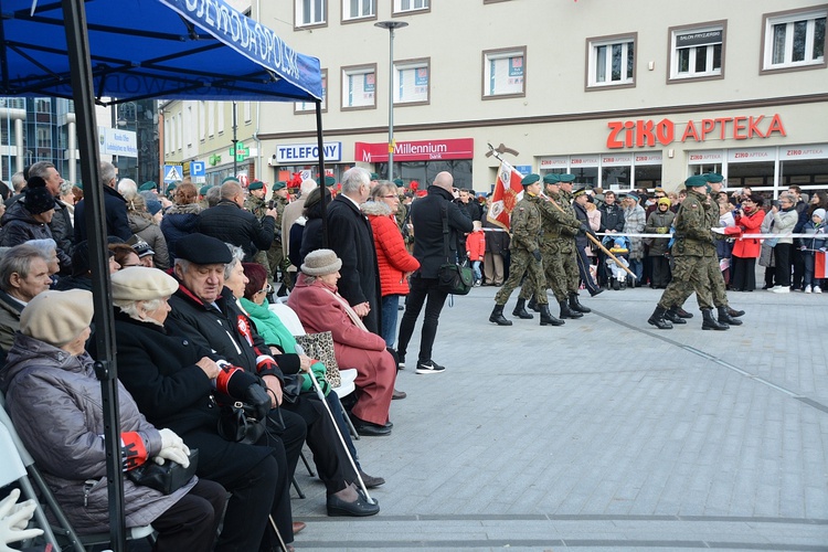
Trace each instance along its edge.
<path fill-rule="evenodd" d="M 215 481 L 199 479 L 190 492 L 156 518 L 155 552 L 210 552 L 221 523 L 227 491 Z"/>

